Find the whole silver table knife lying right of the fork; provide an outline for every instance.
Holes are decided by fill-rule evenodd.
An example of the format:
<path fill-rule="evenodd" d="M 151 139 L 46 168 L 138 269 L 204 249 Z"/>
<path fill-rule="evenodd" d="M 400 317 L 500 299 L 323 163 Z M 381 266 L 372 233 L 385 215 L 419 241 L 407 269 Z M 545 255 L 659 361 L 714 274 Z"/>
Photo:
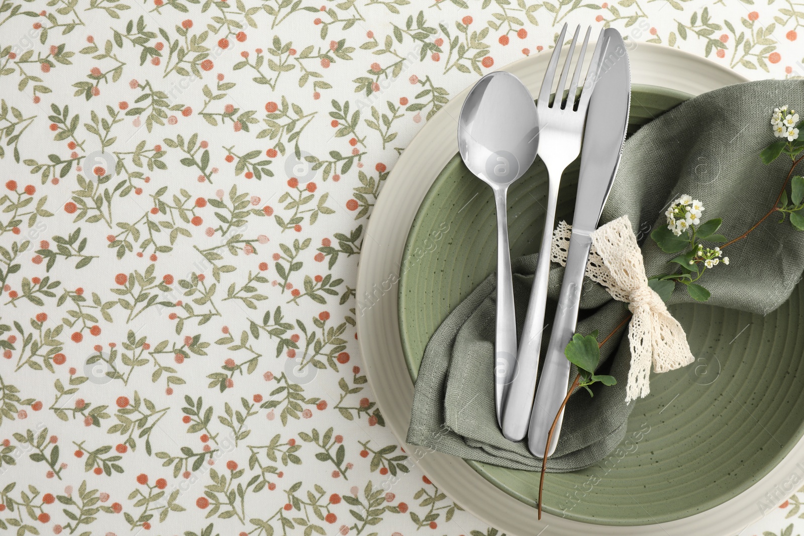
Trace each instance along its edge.
<path fill-rule="evenodd" d="M 601 39 L 607 39 L 607 43 L 597 70 L 595 90 L 589 100 L 567 267 L 528 429 L 528 448 L 539 457 L 544 456 L 548 432 L 567 395 L 570 362 L 564 356 L 564 347 L 575 333 L 580 291 L 592 246 L 590 235 L 597 229 L 603 205 L 617 174 L 628 128 L 631 75 L 626 44 L 613 28 L 607 28 Z M 556 450 L 563 420 L 562 411 L 548 456 Z"/>

